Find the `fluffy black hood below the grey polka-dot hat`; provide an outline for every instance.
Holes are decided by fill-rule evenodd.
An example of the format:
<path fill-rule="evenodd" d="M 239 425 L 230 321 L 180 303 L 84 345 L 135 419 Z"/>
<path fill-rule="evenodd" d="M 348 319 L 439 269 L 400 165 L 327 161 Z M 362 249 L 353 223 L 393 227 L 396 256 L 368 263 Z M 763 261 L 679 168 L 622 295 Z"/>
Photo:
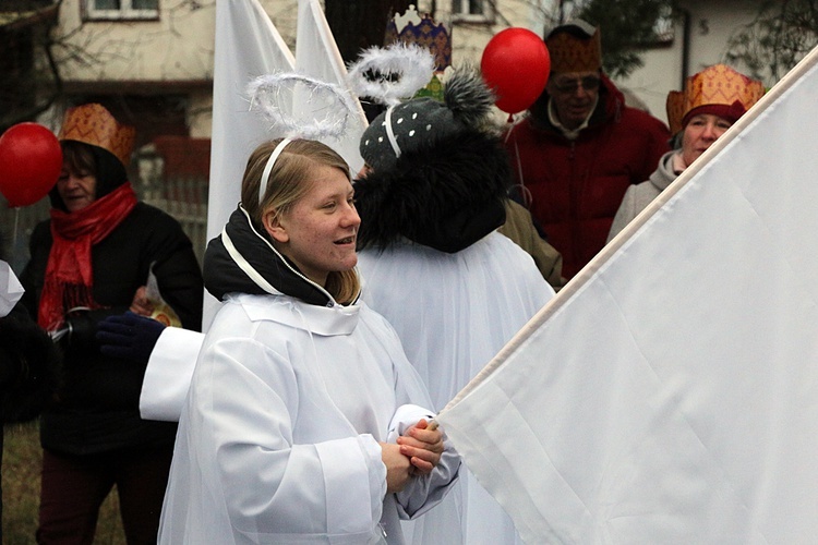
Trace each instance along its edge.
<path fill-rule="evenodd" d="M 455 253 L 505 222 L 510 180 L 501 141 L 462 131 L 402 154 L 393 168 L 357 180 L 359 249 L 401 238 Z"/>

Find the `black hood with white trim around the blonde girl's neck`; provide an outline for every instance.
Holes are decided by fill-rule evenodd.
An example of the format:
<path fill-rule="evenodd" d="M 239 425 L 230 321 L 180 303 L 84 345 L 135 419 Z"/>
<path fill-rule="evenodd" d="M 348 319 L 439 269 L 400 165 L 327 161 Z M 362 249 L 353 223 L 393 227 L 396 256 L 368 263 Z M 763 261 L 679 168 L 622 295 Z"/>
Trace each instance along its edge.
<path fill-rule="evenodd" d="M 309 280 L 292 262 L 273 249 L 267 233 L 251 226 L 241 206 L 230 215 L 225 231 L 246 264 L 276 290 L 309 304 L 335 304 L 323 288 Z M 269 294 L 233 259 L 222 237 L 224 233 L 210 240 L 205 251 L 203 272 L 207 291 L 219 301 L 228 293 Z"/>

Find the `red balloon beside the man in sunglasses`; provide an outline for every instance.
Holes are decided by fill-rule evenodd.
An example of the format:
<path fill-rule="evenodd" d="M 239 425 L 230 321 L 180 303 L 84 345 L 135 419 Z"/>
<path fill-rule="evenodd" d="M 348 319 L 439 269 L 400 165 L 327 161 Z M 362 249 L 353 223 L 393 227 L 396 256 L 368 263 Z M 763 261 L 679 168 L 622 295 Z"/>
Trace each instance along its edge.
<path fill-rule="evenodd" d="M 542 94 L 551 72 L 545 43 L 527 28 L 506 28 L 485 46 L 480 60 L 483 80 L 507 113 L 528 109 Z"/>

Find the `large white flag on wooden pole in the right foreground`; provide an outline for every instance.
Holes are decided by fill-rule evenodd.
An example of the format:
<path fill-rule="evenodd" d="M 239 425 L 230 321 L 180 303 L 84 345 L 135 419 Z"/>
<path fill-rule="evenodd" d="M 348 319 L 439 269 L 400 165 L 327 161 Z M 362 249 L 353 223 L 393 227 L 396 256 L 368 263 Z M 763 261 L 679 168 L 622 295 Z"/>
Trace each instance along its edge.
<path fill-rule="evenodd" d="M 438 416 L 529 543 L 815 543 L 818 53 Z"/>

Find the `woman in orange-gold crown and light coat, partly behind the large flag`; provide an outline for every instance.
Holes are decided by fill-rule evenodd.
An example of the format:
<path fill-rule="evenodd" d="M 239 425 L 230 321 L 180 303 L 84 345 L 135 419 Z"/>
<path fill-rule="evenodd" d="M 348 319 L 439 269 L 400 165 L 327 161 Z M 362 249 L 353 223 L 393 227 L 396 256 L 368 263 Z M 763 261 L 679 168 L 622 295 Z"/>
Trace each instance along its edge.
<path fill-rule="evenodd" d="M 763 84 L 715 64 L 691 75 L 684 92 L 667 95 L 667 121 L 681 148 L 667 152 L 648 181 L 625 192 L 608 240 L 613 239 L 673 180 L 699 158 L 765 93 Z"/>

